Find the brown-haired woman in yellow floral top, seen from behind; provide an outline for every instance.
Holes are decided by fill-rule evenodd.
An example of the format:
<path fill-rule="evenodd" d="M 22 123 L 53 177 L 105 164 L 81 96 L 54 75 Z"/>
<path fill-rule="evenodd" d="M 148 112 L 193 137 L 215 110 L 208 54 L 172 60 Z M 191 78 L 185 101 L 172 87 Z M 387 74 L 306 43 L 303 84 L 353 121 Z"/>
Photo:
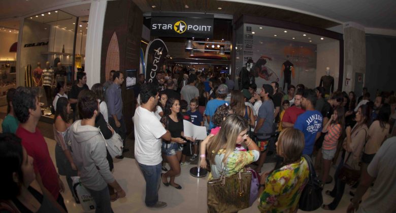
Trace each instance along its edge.
<path fill-rule="evenodd" d="M 309 179 L 309 166 L 301 155 L 304 134 L 298 129 L 283 129 L 276 142 L 276 152 L 283 158 L 280 168 L 263 173 L 260 180 L 262 212 L 296 212 L 301 193 Z"/>

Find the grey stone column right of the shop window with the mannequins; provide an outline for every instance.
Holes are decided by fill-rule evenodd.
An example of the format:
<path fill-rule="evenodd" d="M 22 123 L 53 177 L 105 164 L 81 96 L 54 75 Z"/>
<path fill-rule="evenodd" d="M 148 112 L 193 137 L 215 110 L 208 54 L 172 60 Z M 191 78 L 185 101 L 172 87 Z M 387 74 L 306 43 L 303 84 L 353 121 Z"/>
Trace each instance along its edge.
<path fill-rule="evenodd" d="M 364 27 L 347 22 L 344 24 L 344 76 L 343 91 L 355 90 L 356 73 L 366 74 L 366 33 Z M 345 85 L 345 79 L 350 79 L 349 85 Z M 361 80 L 364 82 L 364 79 Z M 356 96 L 361 95 L 362 88 L 358 88 Z"/>

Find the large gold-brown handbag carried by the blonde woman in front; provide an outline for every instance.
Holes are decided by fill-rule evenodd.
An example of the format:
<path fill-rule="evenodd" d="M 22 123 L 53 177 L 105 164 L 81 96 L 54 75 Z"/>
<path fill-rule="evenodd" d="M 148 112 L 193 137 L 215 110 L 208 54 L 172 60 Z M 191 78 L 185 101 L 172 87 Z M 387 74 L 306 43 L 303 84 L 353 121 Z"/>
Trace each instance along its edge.
<path fill-rule="evenodd" d="M 237 212 L 248 208 L 251 180 L 250 171 L 226 177 L 224 166 L 219 179 L 208 181 L 208 212 Z"/>

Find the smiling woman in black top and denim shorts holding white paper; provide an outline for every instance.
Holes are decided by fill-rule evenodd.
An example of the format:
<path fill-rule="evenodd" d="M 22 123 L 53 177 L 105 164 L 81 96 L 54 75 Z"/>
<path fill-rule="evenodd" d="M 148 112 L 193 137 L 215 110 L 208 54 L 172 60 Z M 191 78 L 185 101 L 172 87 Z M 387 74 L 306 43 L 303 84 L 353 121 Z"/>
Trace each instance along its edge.
<path fill-rule="evenodd" d="M 162 152 L 166 154 L 167 161 L 171 169 L 166 173 L 161 174 L 162 183 L 165 186 L 173 186 L 176 189 L 182 187 L 175 183 L 176 175 L 180 174 L 180 160 L 182 156 L 182 144 L 186 141 L 183 129 L 183 115 L 180 111 L 180 100 L 176 98 L 169 98 L 165 105 L 164 115 L 161 118 L 162 125 L 171 132 L 171 141 L 162 141 Z M 184 137 L 187 140 L 193 141 L 191 137 Z M 170 182 L 168 182 L 170 177 Z"/>

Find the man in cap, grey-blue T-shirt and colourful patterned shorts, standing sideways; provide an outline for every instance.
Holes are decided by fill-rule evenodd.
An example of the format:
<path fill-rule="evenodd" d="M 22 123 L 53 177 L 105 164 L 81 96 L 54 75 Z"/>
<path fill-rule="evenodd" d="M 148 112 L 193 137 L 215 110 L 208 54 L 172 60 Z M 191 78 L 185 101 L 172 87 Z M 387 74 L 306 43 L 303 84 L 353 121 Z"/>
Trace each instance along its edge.
<path fill-rule="evenodd" d="M 269 84 L 263 84 L 261 90 L 262 104 L 258 109 L 257 125 L 254 128 L 254 133 L 257 135 L 257 143 L 260 148 L 260 158 L 258 159 L 258 166 L 254 169 L 256 172 L 261 172 L 261 167 L 266 161 L 267 146 L 273 130 L 274 123 L 274 103 L 271 96 L 274 89 Z"/>

